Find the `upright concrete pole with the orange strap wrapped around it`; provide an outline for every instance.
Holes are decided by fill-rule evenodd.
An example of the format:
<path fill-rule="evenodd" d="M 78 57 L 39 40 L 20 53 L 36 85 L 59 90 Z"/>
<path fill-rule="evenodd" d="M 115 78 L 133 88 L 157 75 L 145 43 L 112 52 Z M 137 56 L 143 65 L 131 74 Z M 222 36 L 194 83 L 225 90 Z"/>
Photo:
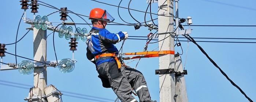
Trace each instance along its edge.
<path fill-rule="evenodd" d="M 158 16 L 158 32 L 173 32 L 173 1 L 158 0 L 158 14 L 166 16 Z M 160 34 L 158 40 L 159 51 L 174 50 L 174 34 Z M 167 37 L 169 36 L 169 37 Z M 167 38 L 166 38 L 167 37 Z M 165 39 L 166 38 L 166 39 Z M 159 69 L 174 68 L 174 55 L 159 55 Z M 175 74 L 159 75 L 159 93 L 160 102 L 175 102 Z"/>

